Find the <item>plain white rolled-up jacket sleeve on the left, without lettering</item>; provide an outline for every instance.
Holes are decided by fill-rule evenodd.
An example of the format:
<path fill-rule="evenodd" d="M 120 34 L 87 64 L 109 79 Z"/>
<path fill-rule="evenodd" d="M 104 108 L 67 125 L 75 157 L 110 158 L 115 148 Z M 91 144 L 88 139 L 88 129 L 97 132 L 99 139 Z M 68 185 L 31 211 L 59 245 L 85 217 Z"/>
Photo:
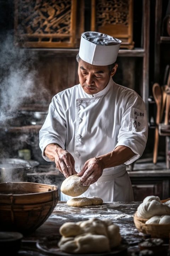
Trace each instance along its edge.
<path fill-rule="evenodd" d="M 49 106 L 49 112 L 39 132 L 39 140 L 42 157 L 46 161 L 51 161 L 44 153 L 47 145 L 51 143 L 56 143 L 60 145 L 61 148 L 65 148 L 66 118 L 64 115 L 62 104 L 57 99 L 57 96 L 54 96 L 52 98 L 52 102 Z"/>

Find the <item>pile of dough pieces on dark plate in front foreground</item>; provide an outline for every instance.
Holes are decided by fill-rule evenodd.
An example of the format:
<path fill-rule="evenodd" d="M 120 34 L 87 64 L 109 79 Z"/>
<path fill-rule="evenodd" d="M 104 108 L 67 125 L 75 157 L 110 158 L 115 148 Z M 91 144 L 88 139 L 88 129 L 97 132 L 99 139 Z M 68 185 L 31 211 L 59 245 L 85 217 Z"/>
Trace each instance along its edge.
<path fill-rule="evenodd" d="M 109 219 L 91 218 L 77 223 L 67 222 L 60 227 L 58 246 L 64 252 L 86 254 L 109 252 L 119 246 L 119 226 Z"/>

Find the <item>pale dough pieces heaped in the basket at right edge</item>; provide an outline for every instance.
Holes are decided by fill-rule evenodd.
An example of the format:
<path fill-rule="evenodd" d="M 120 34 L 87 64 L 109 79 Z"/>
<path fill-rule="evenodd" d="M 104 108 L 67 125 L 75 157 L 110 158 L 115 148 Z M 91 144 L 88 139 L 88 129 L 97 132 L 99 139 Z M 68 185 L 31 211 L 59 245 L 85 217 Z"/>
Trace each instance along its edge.
<path fill-rule="evenodd" d="M 162 203 L 159 197 L 147 196 L 138 206 L 137 216 L 148 219 L 146 224 L 170 224 L 170 200 Z"/>

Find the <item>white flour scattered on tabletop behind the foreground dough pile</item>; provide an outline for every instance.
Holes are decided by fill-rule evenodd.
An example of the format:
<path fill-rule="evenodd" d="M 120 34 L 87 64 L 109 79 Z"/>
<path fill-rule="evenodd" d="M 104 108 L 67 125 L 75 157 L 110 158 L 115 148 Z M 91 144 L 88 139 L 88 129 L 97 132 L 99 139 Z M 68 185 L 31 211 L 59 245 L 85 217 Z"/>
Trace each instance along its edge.
<path fill-rule="evenodd" d="M 103 204 L 99 206 L 78 208 L 69 207 L 66 202 L 60 201 L 53 210 L 52 218 L 57 221 L 58 225 L 62 225 L 66 220 L 77 222 L 90 218 L 98 218 L 101 220 L 111 219 L 114 224 L 119 224 L 121 235 L 129 239 L 129 235 L 132 235 L 131 225 L 135 228 L 133 215 L 140 203 L 141 202 L 103 202 Z M 136 233 L 138 233 L 138 230 L 135 230 Z"/>

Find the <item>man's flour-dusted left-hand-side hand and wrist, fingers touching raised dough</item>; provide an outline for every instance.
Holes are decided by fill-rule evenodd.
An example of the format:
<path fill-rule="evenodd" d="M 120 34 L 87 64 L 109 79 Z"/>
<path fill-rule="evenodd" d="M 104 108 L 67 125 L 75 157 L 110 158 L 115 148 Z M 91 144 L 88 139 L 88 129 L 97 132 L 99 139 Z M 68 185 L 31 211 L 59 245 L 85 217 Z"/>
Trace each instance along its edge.
<path fill-rule="evenodd" d="M 67 178 L 70 175 L 77 174 L 74 169 L 74 158 L 59 145 L 52 143 L 46 146 L 45 155 L 55 161 L 57 169 Z"/>

